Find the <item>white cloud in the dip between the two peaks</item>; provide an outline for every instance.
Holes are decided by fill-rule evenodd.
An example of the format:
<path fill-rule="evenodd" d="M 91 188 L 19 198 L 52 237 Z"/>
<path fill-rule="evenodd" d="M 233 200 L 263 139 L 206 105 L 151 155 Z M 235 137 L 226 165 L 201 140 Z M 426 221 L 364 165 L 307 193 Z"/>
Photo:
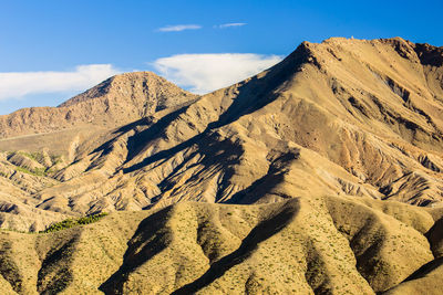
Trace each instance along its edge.
<path fill-rule="evenodd" d="M 178 54 L 156 60 L 154 67 L 177 85 L 204 94 L 258 74 L 281 59 L 254 53 Z"/>

